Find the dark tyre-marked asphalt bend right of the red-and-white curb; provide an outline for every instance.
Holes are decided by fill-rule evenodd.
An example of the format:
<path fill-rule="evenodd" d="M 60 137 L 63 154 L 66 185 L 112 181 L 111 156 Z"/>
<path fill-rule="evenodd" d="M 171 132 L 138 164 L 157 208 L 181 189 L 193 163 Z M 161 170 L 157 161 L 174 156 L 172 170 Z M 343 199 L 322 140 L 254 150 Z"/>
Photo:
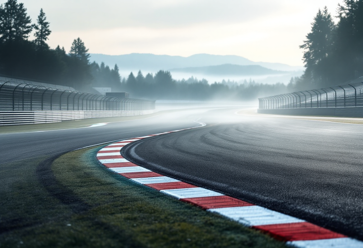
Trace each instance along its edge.
<path fill-rule="evenodd" d="M 237 116 L 125 146 L 148 169 L 363 240 L 363 125 Z"/>

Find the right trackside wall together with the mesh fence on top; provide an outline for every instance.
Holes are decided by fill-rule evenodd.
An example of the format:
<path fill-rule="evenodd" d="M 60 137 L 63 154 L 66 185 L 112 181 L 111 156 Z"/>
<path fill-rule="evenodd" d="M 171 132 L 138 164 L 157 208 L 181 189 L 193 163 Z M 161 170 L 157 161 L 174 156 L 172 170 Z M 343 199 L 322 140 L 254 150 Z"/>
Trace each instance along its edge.
<path fill-rule="evenodd" d="M 259 98 L 258 113 L 363 117 L 363 82 Z"/>

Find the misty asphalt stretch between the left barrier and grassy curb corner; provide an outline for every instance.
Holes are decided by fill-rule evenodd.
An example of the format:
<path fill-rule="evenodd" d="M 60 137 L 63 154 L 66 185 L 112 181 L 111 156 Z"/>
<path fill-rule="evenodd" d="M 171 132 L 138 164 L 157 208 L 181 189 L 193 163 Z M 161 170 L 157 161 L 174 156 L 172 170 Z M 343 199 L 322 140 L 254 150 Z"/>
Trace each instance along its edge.
<path fill-rule="evenodd" d="M 204 109 L 178 111 L 147 119 L 109 123 L 92 128 L 1 134 L 0 165 L 37 156 L 54 156 L 103 142 L 195 127 L 198 124 L 193 121 L 205 111 Z"/>

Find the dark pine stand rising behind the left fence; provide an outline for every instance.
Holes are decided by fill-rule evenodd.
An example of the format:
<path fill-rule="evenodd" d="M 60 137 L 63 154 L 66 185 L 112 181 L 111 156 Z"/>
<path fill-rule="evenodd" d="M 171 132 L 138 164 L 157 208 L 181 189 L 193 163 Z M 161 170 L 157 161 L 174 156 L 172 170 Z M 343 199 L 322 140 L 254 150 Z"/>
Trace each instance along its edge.
<path fill-rule="evenodd" d="M 30 34 L 34 31 L 34 38 Z M 89 62 L 88 49 L 80 38 L 74 39 L 69 52 L 46 43 L 52 33 L 43 9 L 32 24 L 23 3 L 8 0 L 0 5 L 0 74 L 42 80 L 91 91 L 102 84 L 121 90 L 118 67 Z"/>

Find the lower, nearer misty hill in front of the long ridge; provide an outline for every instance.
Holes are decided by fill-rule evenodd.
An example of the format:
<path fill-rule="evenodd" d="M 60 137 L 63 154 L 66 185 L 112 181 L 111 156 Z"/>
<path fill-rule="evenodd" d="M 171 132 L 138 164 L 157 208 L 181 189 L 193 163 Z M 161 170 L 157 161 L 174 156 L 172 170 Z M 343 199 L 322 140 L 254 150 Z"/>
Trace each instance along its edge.
<path fill-rule="evenodd" d="M 291 71 L 277 71 L 262 67 L 260 65 L 231 65 L 231 64 L 177 68 L 177 69 L 171 69 L 170 71 L 191 73 L 191 74 L 203 74 L 203 75 L 236 75 L 236 76 L 274 75 L 274 74 L 291 73 Z"/>

